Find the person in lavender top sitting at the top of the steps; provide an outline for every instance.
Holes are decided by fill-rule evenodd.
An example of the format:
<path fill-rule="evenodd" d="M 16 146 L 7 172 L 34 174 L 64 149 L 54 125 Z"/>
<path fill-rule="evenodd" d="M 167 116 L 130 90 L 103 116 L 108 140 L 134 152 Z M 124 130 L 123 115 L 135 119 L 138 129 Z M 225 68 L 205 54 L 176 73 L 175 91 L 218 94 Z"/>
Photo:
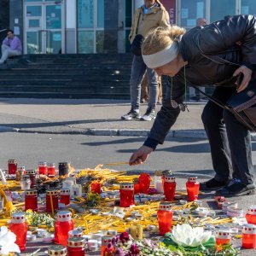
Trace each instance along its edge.
<path fill-rule="evenodd" d="M 10 56 L 21 55 L 22 46 L 20 38 L 16 37 L 12 30 L 7 31 L 7 37 L 2 44 L 2 57 L 0 64 L 3 64 Z"/>

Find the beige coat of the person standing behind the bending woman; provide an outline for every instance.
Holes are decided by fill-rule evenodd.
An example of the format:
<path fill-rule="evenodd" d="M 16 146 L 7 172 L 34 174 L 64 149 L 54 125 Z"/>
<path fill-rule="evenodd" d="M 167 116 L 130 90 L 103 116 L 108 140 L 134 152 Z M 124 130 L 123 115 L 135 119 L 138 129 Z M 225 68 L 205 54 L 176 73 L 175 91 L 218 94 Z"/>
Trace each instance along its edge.
<path fill-rule="evenodd" d="M 170 26 L 169 15 L 165 9 L 165 7 L 159 1 L 156 1 L 158 6 L 154 6 L 146 15 L 143 14 L 143 8 L 140 7 L 136 10 L 132 25 L 131 25 L 131 33 L 129 35 L 129 40 L 132 43 L 133 39 L 136 36 L 137 30 L 137 21 L 140 15 L 140 20 L 138 23 L 137 34 L 143 35 L 145 37 L 149 30 L 156 28 L 158 26 L 167 27 Z"/>

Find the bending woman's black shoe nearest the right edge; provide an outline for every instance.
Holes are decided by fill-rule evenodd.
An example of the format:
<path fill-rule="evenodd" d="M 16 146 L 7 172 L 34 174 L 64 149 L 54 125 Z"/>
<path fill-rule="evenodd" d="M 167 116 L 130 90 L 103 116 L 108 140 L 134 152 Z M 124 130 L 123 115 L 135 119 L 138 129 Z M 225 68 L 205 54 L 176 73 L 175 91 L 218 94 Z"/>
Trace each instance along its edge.
<path fill-rule="evenodd" d="M 215 195 L 218 196 L 240 196 L 240 195 L 254 195 L 256 192 L 254 184 L 232 183 L 225 186 L 223 189 L 218 189 Z"/>

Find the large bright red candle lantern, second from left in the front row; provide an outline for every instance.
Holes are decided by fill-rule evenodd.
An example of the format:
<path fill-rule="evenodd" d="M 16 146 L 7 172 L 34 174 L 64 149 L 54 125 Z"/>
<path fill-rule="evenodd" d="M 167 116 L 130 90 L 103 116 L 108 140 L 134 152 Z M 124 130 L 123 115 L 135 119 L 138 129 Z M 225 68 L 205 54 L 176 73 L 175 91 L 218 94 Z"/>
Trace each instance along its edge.
<path fill-rule="evenodd" d="M 73 230 L 73 220 L 71 219 L 71 212 L 61 211 L 57 212 L 57 219 L 55 221 L 55 239 L 54 242 L 67 246 L 68 232 Z"/>

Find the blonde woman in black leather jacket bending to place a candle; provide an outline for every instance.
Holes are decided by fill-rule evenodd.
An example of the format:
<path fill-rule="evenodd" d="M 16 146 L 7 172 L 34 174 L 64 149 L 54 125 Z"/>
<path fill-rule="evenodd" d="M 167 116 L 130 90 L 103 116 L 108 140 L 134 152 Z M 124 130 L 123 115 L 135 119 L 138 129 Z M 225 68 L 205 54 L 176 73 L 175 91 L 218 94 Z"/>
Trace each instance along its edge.
<path fill-rule="evenodd" d="M 248 84 L 256 86 L 256 20 L 253 15 L 230 16 L 186 33 L 178 26 L 157 28 L 143 42 L 143 61 L 158 75 L 169 75 L 171 85 L 148 138 L 131 155 L 130 165 L 143 163 L 159 143 L 164 143 L 184 108 L 187 84 L 216 84 L 212 96 L 223 103 Z M 237 84 L 240 73 L 243 79 Z M 217 190 L 216 195 L 224 196 L 254 194 L 252 145 L 246 126 L 213 102 L 207 103 L 201 118 L 216 172 L 215 177 L 201 183 L 201 190 Z"/>

